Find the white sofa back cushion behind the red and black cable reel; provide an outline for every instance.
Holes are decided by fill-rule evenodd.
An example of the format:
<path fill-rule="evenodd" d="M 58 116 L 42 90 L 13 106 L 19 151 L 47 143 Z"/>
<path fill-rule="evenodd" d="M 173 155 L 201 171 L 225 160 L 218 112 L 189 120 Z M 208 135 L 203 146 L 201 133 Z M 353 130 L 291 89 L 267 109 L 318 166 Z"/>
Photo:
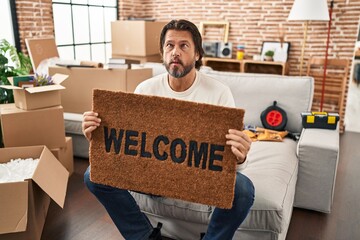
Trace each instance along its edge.
<path fill-rule="evenodd" d="M 312 77 L 201 71 L 230 87 L 236 106 L 245 109 L 245 124 L 262 127 L 261 112 L 276 100 L 277 106 L 284 109 L 288 116 L 285 129 L 301 132 L 300 114 L 310 111 L 312 106 Z"/>

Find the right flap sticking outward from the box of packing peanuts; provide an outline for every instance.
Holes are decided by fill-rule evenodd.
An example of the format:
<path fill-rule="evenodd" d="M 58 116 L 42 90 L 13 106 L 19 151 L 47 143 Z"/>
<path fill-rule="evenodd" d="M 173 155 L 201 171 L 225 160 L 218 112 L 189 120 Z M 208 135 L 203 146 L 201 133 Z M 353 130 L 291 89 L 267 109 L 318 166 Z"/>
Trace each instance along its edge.
<path fill-rule="evenodd" d="M 61 165 L 50 150 L 44 147 L 32 179 L 60 207 L 64 207 L 69 172 Z"/>

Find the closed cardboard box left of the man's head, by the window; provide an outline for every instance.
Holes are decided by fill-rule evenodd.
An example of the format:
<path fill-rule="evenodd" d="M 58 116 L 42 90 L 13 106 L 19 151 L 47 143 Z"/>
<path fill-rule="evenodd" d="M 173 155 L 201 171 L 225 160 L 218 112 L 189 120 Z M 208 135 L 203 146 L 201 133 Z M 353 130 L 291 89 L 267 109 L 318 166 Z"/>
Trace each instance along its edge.
<path fill-rule="evenodd" d="M 112 54 L 149 56 L 159 54 L 160 33 L 167 22 L 111 22 Z"/>

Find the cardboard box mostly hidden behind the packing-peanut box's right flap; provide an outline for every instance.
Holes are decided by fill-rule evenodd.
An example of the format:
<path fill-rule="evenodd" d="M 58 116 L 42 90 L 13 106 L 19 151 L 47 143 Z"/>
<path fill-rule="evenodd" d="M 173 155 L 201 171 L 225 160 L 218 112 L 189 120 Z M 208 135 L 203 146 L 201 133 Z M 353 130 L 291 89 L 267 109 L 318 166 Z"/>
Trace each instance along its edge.
<path fill-rule="evenodd" d="M 52 154 L 59 160 L 59 162 L 68 170 L 69 175 L 74 172 L 74 154 L 72 138 L 66 137 L 66 146 L 62 148 L 51 149 Z"/>

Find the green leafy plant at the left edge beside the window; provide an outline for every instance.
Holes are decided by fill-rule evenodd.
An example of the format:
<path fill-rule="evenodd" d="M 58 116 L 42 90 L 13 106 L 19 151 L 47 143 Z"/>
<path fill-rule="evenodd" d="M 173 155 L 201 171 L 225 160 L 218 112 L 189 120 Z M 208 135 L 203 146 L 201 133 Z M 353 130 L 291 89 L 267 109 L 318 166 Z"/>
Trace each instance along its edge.
<path fill-rule="evenodd" d="M 18 52 L 6 39 L 0 40 L 0 85 L 10 85 L 8 77 L 28 75 L 31 69 L 28 56 Z M 0 104 L 13 102 L 12 90 L 0 88 Z"/>

